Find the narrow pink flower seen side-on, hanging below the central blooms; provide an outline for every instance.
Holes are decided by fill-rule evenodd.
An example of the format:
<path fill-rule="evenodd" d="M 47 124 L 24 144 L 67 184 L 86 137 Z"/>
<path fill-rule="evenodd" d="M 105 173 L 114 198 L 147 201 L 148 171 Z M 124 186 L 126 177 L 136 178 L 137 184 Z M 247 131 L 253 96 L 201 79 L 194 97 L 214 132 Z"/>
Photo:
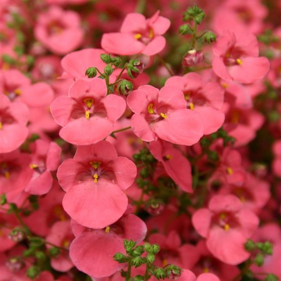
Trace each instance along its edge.
<path fill-rule="evenodd" d="M 160 161 L 167 174 L 180 188 L 192 193 L 192 175 L 189 161 L 171 143 L 158 139 L 150 143 L 152 155 Z"/>

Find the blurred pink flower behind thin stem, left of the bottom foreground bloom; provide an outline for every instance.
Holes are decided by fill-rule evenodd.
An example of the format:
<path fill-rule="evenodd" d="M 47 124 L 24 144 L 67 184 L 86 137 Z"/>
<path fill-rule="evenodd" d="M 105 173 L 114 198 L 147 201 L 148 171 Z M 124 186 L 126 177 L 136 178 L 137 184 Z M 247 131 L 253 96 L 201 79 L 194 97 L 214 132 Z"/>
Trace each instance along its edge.
<path fill-rule="evenodd" d="M 58 256 L 51 258 L 51 266 L 55 270 L 65 272 L 73 267 L 67 251 L 73 239 L 70 220 L 58 221 L 50 229 L 46 241 L 66 249 L 66 251 L 61 250 Z M 51 248 L 51 246 L 48 247 Z"/>

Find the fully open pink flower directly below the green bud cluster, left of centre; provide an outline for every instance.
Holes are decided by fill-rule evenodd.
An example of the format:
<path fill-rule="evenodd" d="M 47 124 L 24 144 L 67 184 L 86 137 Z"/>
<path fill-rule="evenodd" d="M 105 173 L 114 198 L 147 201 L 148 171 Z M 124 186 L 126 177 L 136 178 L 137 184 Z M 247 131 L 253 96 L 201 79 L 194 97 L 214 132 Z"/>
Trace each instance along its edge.
<path fill-rule="evenodd" d="M 90 145 L 108 136 L 114 122 L 123 114 L 123 98 L 106 95 L 105 81 L 100 78 L 76 80 L 68 96 L 59 96 L 51 104 L 56 122 L 63 126 L 60 136 L 74 145 Z"/>

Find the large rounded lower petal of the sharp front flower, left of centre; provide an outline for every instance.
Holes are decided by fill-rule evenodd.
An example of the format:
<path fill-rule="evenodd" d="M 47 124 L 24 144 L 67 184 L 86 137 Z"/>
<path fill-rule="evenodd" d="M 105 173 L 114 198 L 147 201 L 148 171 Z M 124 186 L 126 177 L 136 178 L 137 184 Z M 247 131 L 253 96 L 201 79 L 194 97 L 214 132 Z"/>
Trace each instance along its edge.
<path fill-rule="evenodd" d="M 126 211 L 128 199 L 117 185 L 100 179 L 73 186 L 62 204 L 76 222 L 96 229 L 117 221 Z"/>

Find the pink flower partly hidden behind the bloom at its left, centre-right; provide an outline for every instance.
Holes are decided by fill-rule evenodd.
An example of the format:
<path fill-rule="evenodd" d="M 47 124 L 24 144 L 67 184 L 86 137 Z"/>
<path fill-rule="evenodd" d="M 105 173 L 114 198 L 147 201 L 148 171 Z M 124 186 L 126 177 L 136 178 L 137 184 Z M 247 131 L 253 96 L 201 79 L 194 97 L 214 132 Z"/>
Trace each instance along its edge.
<path fill-rule="evenodd" d="M 224 90 L 218 83 L 203 83 L 198 73 L 190 72 L 183 77 L 168 78 L 165 85 L 178 87 L 184 92 L 187 108 L 198 112 L 202 118 L 204 134 L 221 127 L 224 121 L 224 114 L 220 111 Z"/>

